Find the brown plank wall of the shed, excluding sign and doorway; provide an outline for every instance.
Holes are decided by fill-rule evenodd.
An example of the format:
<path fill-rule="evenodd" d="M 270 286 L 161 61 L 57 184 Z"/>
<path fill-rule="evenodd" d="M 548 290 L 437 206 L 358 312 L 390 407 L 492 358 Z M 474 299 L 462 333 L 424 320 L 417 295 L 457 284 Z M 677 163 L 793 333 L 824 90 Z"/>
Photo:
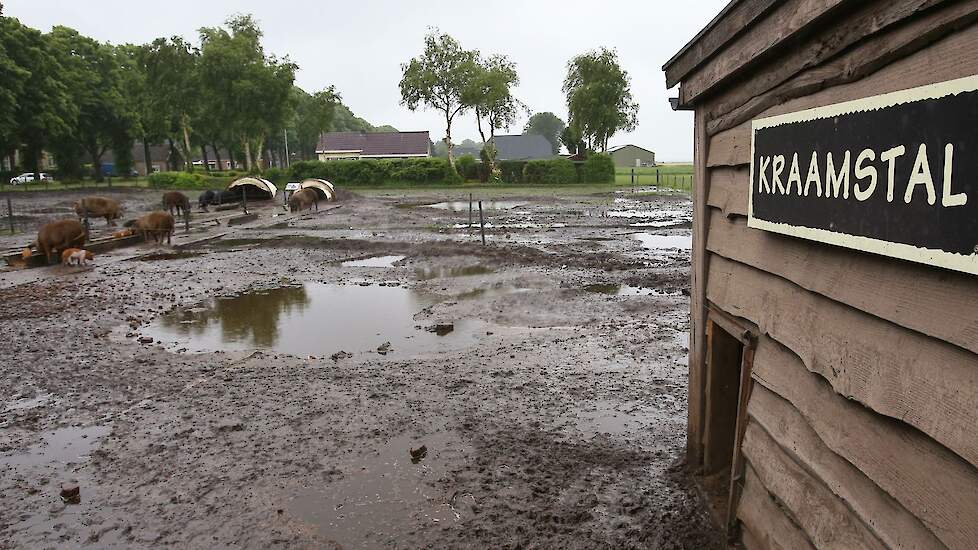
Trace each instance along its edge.
<path fill-rule="evenodd" d="M 695 331 L 709 305 L 760 332 L 741 543 L 974 548 L 978 277 L 746 224 L 752 119 L 978 74 L 978 0 L 839 5 L 788 0 L 683 79 L 682 97 L 699 98 Z"/>

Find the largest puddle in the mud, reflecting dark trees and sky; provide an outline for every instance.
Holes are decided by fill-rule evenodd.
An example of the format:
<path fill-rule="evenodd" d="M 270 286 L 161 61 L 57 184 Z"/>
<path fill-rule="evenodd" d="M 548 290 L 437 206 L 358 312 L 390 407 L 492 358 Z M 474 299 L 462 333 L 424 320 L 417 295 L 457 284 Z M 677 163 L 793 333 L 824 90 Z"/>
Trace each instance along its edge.
<path fill-rule="evenodd" d="M 456 321 L 447 333 L 421 326 L 414 316 L 436 301 L 403 287 L 306 283 L 215 298 L 164 315 L 143 333 L 193 352 L 410 355 L 468 345 L 484 329 L 474 319 Z"/>

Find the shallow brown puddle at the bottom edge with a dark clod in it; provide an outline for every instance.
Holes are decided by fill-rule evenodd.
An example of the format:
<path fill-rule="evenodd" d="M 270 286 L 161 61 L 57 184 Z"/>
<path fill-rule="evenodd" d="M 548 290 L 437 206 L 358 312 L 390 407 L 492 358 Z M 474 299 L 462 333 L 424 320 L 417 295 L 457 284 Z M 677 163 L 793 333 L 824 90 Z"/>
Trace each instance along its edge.
<path fill-rule="evenodd" d="M 442 494 L 433 485 L 468 451 L 449 431 L 396 437 L 341 465 L 337 481 L 293 492 L 287 507 L 343 548 L 397 546 L 419 526 L 461 519 L 465 510 L 458 495 Z"/>

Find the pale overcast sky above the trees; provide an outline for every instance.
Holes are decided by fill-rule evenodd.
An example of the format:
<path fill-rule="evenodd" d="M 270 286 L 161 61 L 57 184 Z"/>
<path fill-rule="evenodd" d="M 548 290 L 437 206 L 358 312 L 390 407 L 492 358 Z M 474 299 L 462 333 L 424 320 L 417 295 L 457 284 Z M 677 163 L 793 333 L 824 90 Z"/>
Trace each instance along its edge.
<path fill-rule="evenodd" d="M 662 65 L 728 0 L 643 1 L 496 0 L 403 2 L 329 0 L 7 0 L 4 15 L 47 32 L 66 25 L 114 44 L 180 35 L 197 42 L 197 29 L 220 25 L 233 13 L 251 13 L 265 33 L 265 50 L 299 65 L 296 84 L 309 92 L 335 85 L 353 112 L 372 124 L 429 130 L 444 137 L 436 112 L 400 105 L 401 64 L 418 55 L 429 27 L 464 48 L 503 54 L 517 64 L 517 97 L 533 112 L 553 111 L 566 121 L 560 87 L 567 61 L 605 46 L 618 51 L 640 106 L 638 128 L 611 145 L 634 143 L 662 161 L 692 159 L 692 115 L 673 112 Z M 520 133 L 525 117 L 510 129 Z M 454 141 L 478 139 L 466 115 L 453 126 Z"/>

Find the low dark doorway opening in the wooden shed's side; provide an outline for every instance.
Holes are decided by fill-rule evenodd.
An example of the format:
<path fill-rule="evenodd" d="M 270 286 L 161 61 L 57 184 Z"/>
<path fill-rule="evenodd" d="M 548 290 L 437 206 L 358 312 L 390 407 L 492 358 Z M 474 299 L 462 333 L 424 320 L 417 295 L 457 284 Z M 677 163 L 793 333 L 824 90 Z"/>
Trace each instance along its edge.
<path fill-rule="evenodd" d="M 747 420 L 754 339 L 733 317 L 710 309 L 706 323 L 702 453 L 698 473 L 717 523 L 735 527 L 732 513 L 743 476 L 740 444 Z"/>

